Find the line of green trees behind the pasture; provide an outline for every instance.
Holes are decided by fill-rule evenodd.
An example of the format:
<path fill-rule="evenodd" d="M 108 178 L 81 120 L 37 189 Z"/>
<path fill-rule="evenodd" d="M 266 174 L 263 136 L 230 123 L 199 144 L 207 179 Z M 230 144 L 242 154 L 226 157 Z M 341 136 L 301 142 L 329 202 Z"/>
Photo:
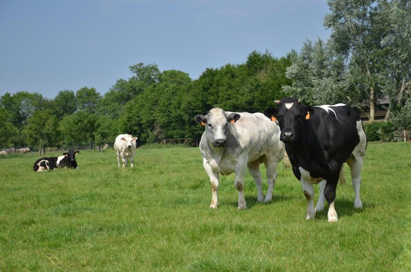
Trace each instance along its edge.
<path fill-rule="evenodd" d="M 306 41 L 300 52 L 277 59 L 251 52 L 245 63 L 209 68 L 197 80 L 156 64 L 130 66 L 104 95 L 95 88 L 6 93 L 0 98 L 0 147 L 69 147 L 113 143 L 117 134 L 142 143 L 200 138 L 198 113 L 213 107 L 261 112 L 284 96 L 307 104 L 343 102 L 374 120 L 378 99 L 387 98 L 386 121 L 411 127 L 410 1 L 329 0 L 328 41 Z"/>

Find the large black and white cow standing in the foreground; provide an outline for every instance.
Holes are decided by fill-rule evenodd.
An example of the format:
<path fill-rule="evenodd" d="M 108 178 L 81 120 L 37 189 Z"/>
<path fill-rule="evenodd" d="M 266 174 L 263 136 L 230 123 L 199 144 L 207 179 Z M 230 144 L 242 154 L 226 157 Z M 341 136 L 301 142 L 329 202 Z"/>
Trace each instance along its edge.
<path fill-rule="evenodd" d="M 266 116 L 277 119 L 280 140 L 285 143 L 295 177 L 300 180 L 307 199 L 307 217 L 324 209 L 328 202 L 328 221 L 338 221 L 334 208 L 335 189 L 346 162 L 351 168 L 354 208 L 362 208 L 361 168 L 367 139 L 359 114 L 344 104 L 306 106 L 297 99 L 275 101 Z M 320 198 L 314 209 L 313 183 L 320 183 Z"/>

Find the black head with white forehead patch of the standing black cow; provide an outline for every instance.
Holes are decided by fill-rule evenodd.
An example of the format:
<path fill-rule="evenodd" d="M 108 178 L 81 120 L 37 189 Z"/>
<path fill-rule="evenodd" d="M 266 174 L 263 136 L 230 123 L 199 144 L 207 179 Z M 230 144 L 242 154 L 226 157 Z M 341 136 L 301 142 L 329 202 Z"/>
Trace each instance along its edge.
<path fill-rule="evenodd" d="M 266 109 L 264 114 L 272 121 L 278 120 L 281 141 L 285 143 L 297 142 L 303 123 L 309 119 L 309 112 L 312 111 L 312 108 L 301 104 L 300 100 L 294 98 L 285 98 L 274 102 L 278 106 Z"/>

